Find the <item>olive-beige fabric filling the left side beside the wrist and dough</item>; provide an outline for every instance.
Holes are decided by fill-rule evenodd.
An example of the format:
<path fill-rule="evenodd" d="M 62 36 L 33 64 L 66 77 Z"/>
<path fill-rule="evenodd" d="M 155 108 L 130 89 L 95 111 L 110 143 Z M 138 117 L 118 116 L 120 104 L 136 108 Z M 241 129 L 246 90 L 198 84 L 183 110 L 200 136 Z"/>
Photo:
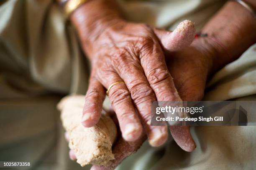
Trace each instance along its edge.
<path fill-rule="evenodd" d="M 56 104 L 61 96 L 85 93 L 88 75 L 75 32 L 53 1 L 1 4 L 0 160 L 29 161 L 32 169 L 79 168 L 69 160 Z"/>

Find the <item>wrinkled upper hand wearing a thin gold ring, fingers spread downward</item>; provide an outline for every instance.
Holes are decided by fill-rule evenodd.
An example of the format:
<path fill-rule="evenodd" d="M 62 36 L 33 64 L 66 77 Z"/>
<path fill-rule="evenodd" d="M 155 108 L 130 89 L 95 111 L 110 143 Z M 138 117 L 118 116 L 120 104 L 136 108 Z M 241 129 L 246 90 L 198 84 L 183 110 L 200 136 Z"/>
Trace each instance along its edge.
<path fill-rule="evenodd" d="M 151 101 L 181 99 L 166 67 L 163 50 L 172 52 L 187 47 L 194 35 L 194 25 L 187 20 L 174 32 L 120 21 L 95 37 L 93 43 L 86 42 L 84 49 L 91 60 L 92 72 L 83 125 L 91 127 L 98 122 L 105 89 L 123 81 L 125 84 L 116 84 L 109 91 L 123 138 L 135 141 L 145 127 L 152 146 L 165 143 L 167 127 L 150 126 Z"/>

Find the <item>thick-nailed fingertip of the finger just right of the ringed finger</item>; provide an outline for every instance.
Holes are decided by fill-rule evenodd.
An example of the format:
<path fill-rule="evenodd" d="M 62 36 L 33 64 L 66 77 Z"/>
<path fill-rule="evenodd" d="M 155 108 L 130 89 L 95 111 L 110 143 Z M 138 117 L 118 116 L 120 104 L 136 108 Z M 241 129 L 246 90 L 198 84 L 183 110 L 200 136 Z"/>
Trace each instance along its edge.
<path fill-rule="evenodd" d="M 167 127 L 153 128 L 149 134 L 149 144 L 153 147 L 163 145 L 168 138 Z"/>

